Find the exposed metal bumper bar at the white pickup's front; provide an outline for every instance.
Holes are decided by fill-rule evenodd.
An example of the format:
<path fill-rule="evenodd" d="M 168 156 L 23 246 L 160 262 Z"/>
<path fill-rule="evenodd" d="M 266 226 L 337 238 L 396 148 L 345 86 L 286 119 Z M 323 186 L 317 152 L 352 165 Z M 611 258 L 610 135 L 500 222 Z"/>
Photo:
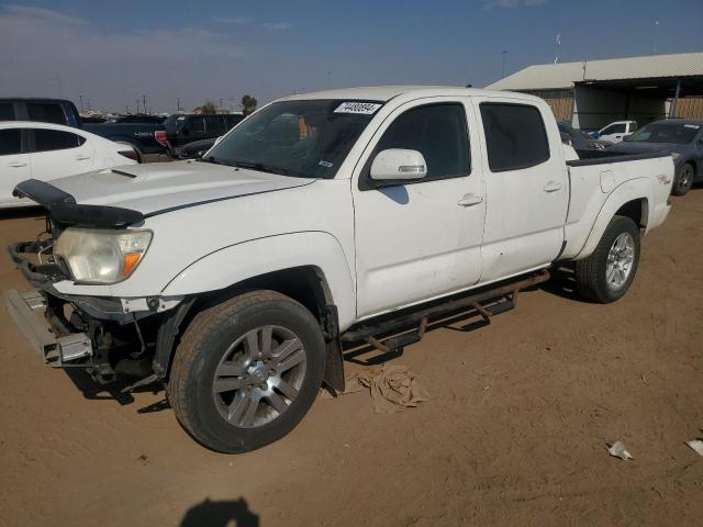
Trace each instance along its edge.
<path fill-rule="evenodd" d="M 92 357 L 92 343 L 85 333 L 58 335 L 52 330 L 45 316 L 46 299 L 41 293 L 10 290 L 4 298 L 10 316 L 46 365 L 62 368 Z"/>

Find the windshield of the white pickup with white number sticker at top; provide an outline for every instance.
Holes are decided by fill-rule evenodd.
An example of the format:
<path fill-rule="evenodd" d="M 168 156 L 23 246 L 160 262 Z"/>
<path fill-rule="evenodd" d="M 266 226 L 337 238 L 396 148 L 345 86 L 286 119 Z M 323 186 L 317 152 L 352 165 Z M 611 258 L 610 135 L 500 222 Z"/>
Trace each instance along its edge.
<path fill-rule="evenodd" d="M 382 103 L 308 100 L 270 104 L 202 160 L 302 178 L 334 178 Z"/>

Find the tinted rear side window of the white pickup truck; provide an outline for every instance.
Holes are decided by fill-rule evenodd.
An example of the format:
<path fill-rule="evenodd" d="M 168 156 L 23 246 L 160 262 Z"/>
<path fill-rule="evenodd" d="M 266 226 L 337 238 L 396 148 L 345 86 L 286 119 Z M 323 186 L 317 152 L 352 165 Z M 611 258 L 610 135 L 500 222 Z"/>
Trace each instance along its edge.
<path fill-rule="evenodd" d="M 492 172 L 529 168 L 549 159 L 547 131 L 535 106 L 483 102 L 480 108 Z"/>

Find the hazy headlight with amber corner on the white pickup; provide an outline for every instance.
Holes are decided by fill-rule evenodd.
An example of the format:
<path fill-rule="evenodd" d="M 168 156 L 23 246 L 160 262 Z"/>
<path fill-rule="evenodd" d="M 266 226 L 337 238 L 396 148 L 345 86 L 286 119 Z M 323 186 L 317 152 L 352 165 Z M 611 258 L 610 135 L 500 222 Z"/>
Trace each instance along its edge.
<path fill-rule="evenodd" d="M 78 282 L 116 283 L 136 269 L 152 236 L 152 231 L 67 228 L 54 255 L 68 265 Z"/>

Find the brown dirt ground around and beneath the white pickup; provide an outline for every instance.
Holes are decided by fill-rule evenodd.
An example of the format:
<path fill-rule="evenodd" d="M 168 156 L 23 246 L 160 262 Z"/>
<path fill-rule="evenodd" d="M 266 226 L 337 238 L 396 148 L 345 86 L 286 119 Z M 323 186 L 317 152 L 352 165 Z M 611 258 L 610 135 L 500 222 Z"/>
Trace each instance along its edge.
<path fill-rule="evenodd" d="M 0 218 L 0 246 L 37 234 Z M 625 299 L 567 282 L 490 326 L 429 332 L 393 363 L 432 397 L 377 415 L 319 397 L 281 441 L 224 456 L 196 444 L 164 392 L 114 399 L 49 370 L 0 309 L 2 526 L 700 526 L 703 189 L 647 236 Z M 1 289 L 26 284 L 0 255 Z M 359 368 L 349 365 L 349 371 Z M 612 458 L 622 440 L 633 461 Z"/>

